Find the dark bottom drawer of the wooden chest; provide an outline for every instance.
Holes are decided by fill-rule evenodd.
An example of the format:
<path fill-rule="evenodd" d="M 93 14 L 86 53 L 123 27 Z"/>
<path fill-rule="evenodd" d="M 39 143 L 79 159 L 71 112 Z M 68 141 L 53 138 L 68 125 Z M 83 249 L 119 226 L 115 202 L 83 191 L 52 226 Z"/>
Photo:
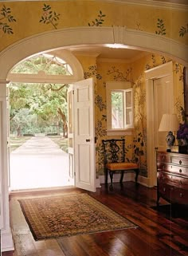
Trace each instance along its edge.
<path fill-rule="evenodd" d="M 173 187 L 166 183 L 159 183 L 159 195 L 170 203 L 179 203 L 188 205 L 188 190 L 180 187 Z"/>

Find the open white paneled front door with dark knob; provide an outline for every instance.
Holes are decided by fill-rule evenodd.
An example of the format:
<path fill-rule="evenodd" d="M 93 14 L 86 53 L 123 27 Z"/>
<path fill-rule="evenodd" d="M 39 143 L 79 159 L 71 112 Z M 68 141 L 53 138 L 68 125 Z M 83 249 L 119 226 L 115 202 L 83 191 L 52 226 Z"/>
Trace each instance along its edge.
<path fill-rule="evenodd" d="M 74 84 L 74 160 L 76 187 L 96 191 L 93 78 Z"/>

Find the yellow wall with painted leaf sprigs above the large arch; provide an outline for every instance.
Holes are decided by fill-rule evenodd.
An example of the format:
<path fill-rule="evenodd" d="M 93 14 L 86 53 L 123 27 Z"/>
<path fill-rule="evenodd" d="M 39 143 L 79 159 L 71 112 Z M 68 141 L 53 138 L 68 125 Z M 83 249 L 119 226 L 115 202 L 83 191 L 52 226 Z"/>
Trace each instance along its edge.
<path fill-rule="evenodd" d="M 49 6 L 50 9 L 44 10 L 45 6 Z M 12 18 L 7 18 L 7 14 L 3 15 L 5 11 L 0 12 L 0 51 L 36 33 L 89 24 L 97 26 L 96 19 L 102 20 L 99 26 L 126 26 L 128 29 L 150 33 L 162 32 L 161 28 L 163 28 L 163 34 L 159 36 L 170 37 L 175 41 L 188 44 L 188 31 L 183 36 L 179 34 L 182 27 L 187 30 L 187 10 L 162 9 L 156 6 L 137 6 L 108 1 L 75 0 L 0 2 L 0 10 L 5 7 L 6 10 L 10 9 L 8 15 Z M 49 18 L 50 11 L 52 11 L 52 18 Z M 57 15 L 56 20 L 55 15 Z M 49 23 L 48 21 L 40 22 L 42 17 L 49 18 Z M 159 24 L 161 28 L 158 27 L 158 20 L 161 21 Z M 5 24 L 10 28 L 10 33 L 8 30 L 5 33 Z"/>

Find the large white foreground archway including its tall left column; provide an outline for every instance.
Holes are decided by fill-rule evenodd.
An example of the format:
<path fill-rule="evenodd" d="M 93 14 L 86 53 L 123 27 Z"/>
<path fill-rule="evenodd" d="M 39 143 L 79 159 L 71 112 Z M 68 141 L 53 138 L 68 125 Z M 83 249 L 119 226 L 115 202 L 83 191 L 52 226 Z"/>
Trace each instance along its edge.
<path fill-rule="evenodd" d="M 166 54 L 174 60 L 188 66 L 188 49 L 177 41 L 166 37 L 159 37 L 153 33 L 140 30 L 127 30 L 124 27 L 80 27 L 63 30 L 53 30 L 27 37 L 22 41 L 10 45 L 0 53 L 0 108 L 1 108 L 1 136 L 0 152 L 2 156 L 2 244 L 4 250 L 13 250 L 14 244 L 10 231 L 9 220 L 9 191 L 6 153 L 6 84 L 10 70 L 19 61 L 37 53 L 52 51 L 53 49 L 69 48 L 70 45 L 129 45 L 130 49 L 142 49 L 155 53 Z M 76 61 L 76 60 L 75 60 Z M 75 62 L 76 63 L 76 62 Z M 83 79 L 83 72 L 77 61 L 75 67 L 76 81 Z M 148 173 L 150 175 L 150 173 Z"/>

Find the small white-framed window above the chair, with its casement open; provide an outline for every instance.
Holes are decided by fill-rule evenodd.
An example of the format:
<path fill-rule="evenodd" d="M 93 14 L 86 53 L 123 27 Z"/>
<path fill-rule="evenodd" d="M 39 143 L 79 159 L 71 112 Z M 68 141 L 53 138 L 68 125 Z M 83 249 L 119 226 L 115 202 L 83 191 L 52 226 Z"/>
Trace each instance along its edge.
<path fill-rule="evenodd" d="M 133 125 L 133 93 L 129 82 L 108 82 L 107 133 L 124 135 Z"/>

